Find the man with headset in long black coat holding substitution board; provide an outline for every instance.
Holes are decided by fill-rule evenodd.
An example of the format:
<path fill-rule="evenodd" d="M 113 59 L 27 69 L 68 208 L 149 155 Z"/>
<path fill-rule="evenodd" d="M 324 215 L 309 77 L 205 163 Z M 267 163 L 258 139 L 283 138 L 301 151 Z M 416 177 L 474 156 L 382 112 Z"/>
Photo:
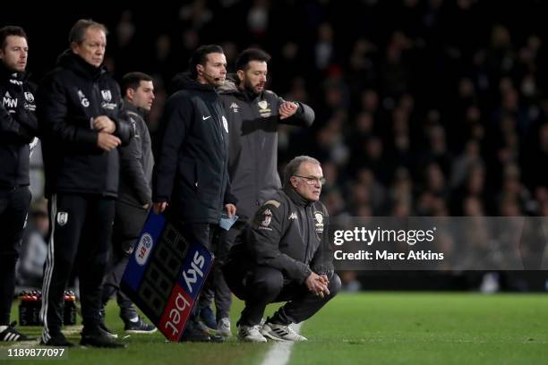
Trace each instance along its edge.
<path fill-rule="evenodd" d="M 160 122 L 152 184 L 154 211 L 169 206 L 184 237 L 210 250 L 223 209 L 235 214 L 227 170 L 228 123 L 216 90 L 226 76 L 227 59 L 215 45 L 196 49 L 189 74 L 177 76 L 179 90 L 167 100 Z M 194 311 L 184 340 L 211 340 L 198 322 Z"/>

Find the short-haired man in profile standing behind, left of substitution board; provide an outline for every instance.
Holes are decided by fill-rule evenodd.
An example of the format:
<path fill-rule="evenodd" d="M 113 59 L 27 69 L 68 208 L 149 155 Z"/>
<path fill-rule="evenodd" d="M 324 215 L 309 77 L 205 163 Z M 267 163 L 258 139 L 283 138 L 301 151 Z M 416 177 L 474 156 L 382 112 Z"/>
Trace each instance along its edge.
<path fill-rule="evenodd" d="M 127 146 L 118 151 L 120 186 L 116 200 L 112 251 L 107 275 L 103 282 L 101 314 L 104 316 L 107 301 L 116 293 L 120 318 L 124 321 L 124 331 L 150 334 L 156 332 L 156 327 L 139 317 L 131 299 L 120 290 L 120 281 L 152 204 L 151 182 L 154 157 L 152 157 L 149 128 L 144 120 L 154 101 L 152 77 L 142 72 L 125 74 L 122 79 L 122 93 L 124 106 L 135 135 Z M 110 333 L 104 323 L 102 326 Z"/>

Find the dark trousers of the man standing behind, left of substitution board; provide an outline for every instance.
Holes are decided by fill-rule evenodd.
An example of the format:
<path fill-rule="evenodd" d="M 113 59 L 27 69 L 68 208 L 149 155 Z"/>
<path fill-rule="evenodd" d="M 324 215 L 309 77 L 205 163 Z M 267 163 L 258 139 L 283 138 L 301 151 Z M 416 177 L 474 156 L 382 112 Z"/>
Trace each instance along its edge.
<path fill-rule="evenodd" d="M 120 290 L 120 282 L 125 267 L 139 238 L 142 226 L 147 220 L 149 211 L 134 207 L 122 201 L 116 201 L 115 224 L 112 233 L 111 251 L 107 265 L 107 275 L 103 282 L 102 307 L 116 293 L 120 307 L 120 317 L 129 320 L 137 317 L 137 310 L 131 299 Z"/>

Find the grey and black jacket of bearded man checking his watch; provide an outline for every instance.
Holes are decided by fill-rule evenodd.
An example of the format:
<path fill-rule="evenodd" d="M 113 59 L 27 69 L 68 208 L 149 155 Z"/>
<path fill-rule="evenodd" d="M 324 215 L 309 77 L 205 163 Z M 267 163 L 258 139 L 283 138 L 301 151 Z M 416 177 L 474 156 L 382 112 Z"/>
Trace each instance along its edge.
<path fill-rule="evenodd" d="M 295 115 L 280 120 L 278 107 L 285 101 L 265 90 L 253 95 L 227 79 L 220 89 L 230 138 L 228 174 L 231 192 L 238 201 L 237 214 L 254 216 L 257 208 L 281 188 L 278 176 L 278 123 L 309 127 L 314 121 L 310 106 L 298 103 Z"/>

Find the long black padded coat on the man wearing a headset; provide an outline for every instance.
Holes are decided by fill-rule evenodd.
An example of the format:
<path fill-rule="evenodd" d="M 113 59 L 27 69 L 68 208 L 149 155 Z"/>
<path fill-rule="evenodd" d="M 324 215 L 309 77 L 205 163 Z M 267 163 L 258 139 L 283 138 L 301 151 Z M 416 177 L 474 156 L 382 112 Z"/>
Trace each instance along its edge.
<path fill-rule="evenodd" d="M 235 203 L 228 180 L 228 123 L 217 91 L 185 74 L 167 99 L 155 146 L 154 202 L 167 201 L 184 223 L 217 224 Z"/>

